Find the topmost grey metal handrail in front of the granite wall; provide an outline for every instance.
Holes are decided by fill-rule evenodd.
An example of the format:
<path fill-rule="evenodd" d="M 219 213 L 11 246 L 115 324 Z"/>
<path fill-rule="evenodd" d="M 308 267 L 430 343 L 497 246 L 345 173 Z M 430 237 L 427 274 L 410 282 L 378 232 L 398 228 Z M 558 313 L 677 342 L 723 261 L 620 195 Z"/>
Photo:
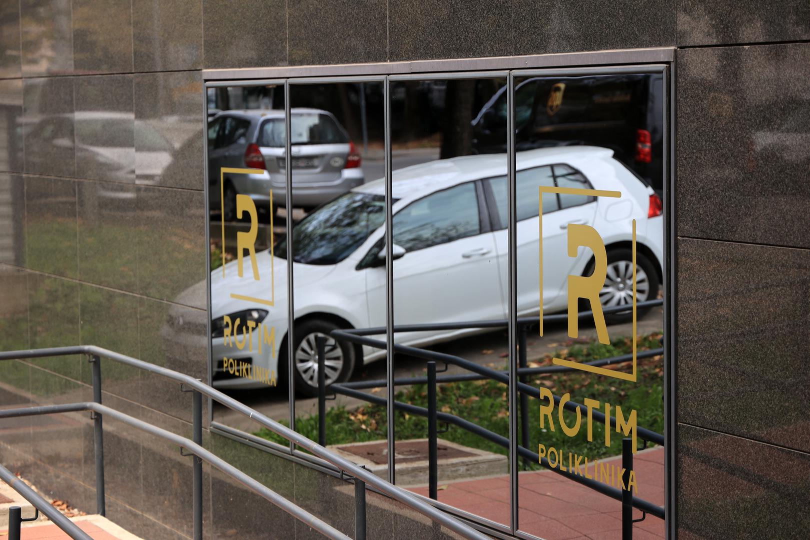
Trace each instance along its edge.
<path fill-rule="evenodd" d="M 96 347 L 93 345 L 79 345 L 73 347 L 49 347 L 44 349 L 29 349 L 21 351 L 4 351 L 0 352 L 0 360 L 44 358 L 49 356 L 66 356 L 66 355 L 90 355 L 91 357 L 104 357 L 119 362 L 121 364 L 130 365 L 134 368 L 143 369 L 146 372 L 154 373 L 156 375 L 164 376 L 173 381 L 177 381 L 178 383 L 181 383 L 182 385 L 185 385 L 186 387 L 193 389 L 194 391 L 204 396 L 207 396 L 208 398 L 211 398 L 215 402 L 219 402 L 220 404 L 228 407 L 228 409 L 231 409 L 241 415 L 244 415 L 248 419 L 255 420 L 257 423 L 261 424 L 263 427 L 266 427 L 271 432 L 274 432 L 276 435 L 282 436 L 284 439 L 287 439 L 292 443 L 300 446 L 301 448 L 309 451 L 309 453 L 321 457 L 323 460 L 328 461 L 330 464 L 332 464 L 339 470 L 343 470 L 343 472 L 351 475 L 352 477 L 359 479 L 360 481 L 367 483 L 372 487 L 375 487 L 378 491 L 382 492 L 384 495 L 388 495 L 392 499 L 397 500 L 400 503 L 409 506 L 410 508 L 413 508 L 414 510 L 416 510 L 416 512 L 420 512 L 424 516 L 430 518 L 432 521 L 437 521 L 437 523 L 444 525 L 445 527 L 454 531 L 457 534 L 460 534 L 463 538 L 471 538 L 474 540 L 488 540 L 488 536 L 486 536 L 485 534 L 480 533 L 480 531 L 474 529 L 471 525 L 467 525 L 467 523 L 458 520 L 456 517 L 451 516 L 447 512 L 444 512 L 439 508 L 434 507 L 433 504 L 425 502 L 418 495 L 414 495 L 401 487 L 397 487 L 391 483 L 388 483 L 386 480 L 378 477 L 376 474 L 373 474 L 368 470 L 364 470 L 360 466 L 356 466 L 354 463 L 352 463 L 352 461 L 349 461 L 346 458 L 337 455 L 336 453 L 332 452 L 329 449 L 324 448 L 323 446 L 314 442 L 313 440 L 309 440 L 307 437 L 302 436 L 300 433 L 292 431 L 292 429 L 290 429 L 289 427 L 285 427 L 282 424 L 276 422 L 275 420 L 268 418 L 266 415 L 262 415 L 262 413 L 258 412 L 258 410 L 254 410 L 253 408 L 246 406 L 244 403 L 238 402 L 236 399 L 233 399 L 225 395 L 224 393 L 220 392 L 217 389 L 212 388 L 211 386 L 203 383 L 202 381 L 194 379 L 194 377 L 192 376 L 188 376 L 168 368 L 156 366 L 155 364 L 150 364 L 148 362 L 144 362 L 143 360 L 135 359 L 132 358 L 131 356 L 122 355 L 115 351 L 109 351 L 108 349 Z M 100 363 L 96 362 L 96 364 Z M 100 390 L 100 381 L 98 385 L 96 385 L 96 378 L 94 377 L 93 382 L 94 382 L 94 389 L 98 388 Z M 96 398 L 96 402 L 100 402 L 100 397 Z M 103 414 L 104 413 L 102 413 L 102 415 Z M 109 411 L 106 414 L 109 415 Z M 330 538 L 342 538 L 342 537 L 330 537 Z"/>

